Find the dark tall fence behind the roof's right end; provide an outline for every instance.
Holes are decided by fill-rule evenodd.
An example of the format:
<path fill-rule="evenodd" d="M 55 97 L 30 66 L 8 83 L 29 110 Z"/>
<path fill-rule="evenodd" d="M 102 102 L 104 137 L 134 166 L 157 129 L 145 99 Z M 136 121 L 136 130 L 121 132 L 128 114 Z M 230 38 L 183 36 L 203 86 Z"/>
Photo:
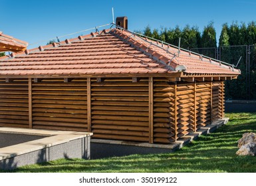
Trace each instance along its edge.
<path fill-rule="evenodd" d="M 241 70 L 237 80 L 225 83 L 226 100 L 256 100 L 256 45 L 191 48 L 193 52 L 222 60 Z"/>

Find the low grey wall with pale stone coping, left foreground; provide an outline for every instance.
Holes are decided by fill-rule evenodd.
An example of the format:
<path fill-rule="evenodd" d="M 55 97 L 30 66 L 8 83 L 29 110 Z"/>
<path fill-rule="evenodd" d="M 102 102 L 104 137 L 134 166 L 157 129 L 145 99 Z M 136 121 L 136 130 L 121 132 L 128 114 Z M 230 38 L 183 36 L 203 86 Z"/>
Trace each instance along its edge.
<path fill-rule="evenodd" d="M 0 148 L 0 169 L 14 169 L 59 158 L 90 159 L 92 133 L 23 128 L 0 128 L 0 133 L 45 136 Z"/>

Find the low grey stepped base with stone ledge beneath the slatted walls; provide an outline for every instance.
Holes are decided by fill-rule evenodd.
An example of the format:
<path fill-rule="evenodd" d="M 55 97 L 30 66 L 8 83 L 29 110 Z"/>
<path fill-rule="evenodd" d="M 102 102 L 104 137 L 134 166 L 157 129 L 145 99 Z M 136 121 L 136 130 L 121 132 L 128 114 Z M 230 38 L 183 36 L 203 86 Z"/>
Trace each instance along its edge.
<path fill-rule="evenodd" d="M 206 135 L 213 132 L 223 124 L 227 124 L 228 120 L 229 118 L 217 120 L 210 125 L 200 128 L 197 130 L 197 132 L 190 133 L 187 136 L 180 138 L 178 141 L 170 144 L 92 139 L 91 159 L 132 154 L 170 153 L 176 149 L 182 148 L 184 145 L 190 143 L 201 135 Z"/>

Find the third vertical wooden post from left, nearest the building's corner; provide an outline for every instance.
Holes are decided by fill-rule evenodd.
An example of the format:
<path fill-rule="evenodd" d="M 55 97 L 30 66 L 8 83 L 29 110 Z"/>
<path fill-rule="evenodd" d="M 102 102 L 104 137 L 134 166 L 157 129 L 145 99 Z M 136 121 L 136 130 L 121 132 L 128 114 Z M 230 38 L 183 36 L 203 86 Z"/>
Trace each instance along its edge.
<path fill-rule="evenodd" d="M 154 143 L 154 92 L 153 78 L 148 78 L 148 119 L 149 119 L 149 143 Z"/>

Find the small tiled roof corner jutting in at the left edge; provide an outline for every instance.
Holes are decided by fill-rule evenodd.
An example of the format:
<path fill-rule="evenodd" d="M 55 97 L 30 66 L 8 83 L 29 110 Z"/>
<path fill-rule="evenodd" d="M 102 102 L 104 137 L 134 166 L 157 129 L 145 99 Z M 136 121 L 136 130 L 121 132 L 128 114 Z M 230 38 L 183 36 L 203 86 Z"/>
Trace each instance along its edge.
<path fill-rule="evenodd" d="M 0 52 L 19 52 L 24 51 L 27 48 L 28 43 L 15 39 L 9 35 L 4 35 L 0 31 Z"/>

